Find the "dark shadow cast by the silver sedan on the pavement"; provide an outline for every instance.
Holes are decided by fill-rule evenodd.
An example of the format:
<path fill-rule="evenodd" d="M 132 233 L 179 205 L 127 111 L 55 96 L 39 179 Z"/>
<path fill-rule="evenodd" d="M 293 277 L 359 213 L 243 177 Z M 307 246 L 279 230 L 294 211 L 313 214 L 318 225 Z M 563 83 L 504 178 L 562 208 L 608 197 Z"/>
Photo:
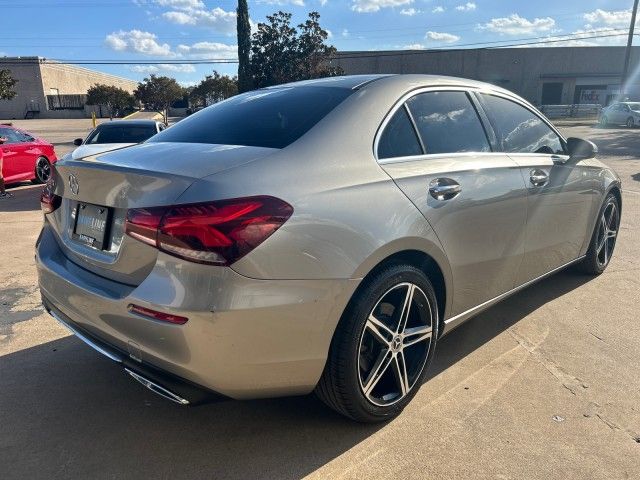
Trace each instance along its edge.
<path fill-rule="evenodd" d="M 445 337 L 431 376 L 588 281 L 561 273 Z M 14 478 L 299 479 L 384 425 L 314 396 L 171 404 L 73 337 L 0 357 L 0 465 Z"/>

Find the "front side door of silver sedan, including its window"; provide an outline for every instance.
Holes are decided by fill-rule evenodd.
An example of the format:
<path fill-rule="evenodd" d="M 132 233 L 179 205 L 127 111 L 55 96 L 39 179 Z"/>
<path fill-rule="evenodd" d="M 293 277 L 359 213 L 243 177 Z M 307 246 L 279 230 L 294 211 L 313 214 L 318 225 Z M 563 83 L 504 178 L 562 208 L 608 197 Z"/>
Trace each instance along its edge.
<path fill-rule="evenodd" d="M 528 105 L 498 94 L 478 98 L 527 185 L 525 256 L 516 282 L 522 284 L 578 257 L 594 184 L 582 162 L 568 162 L 564 139 Z"/>

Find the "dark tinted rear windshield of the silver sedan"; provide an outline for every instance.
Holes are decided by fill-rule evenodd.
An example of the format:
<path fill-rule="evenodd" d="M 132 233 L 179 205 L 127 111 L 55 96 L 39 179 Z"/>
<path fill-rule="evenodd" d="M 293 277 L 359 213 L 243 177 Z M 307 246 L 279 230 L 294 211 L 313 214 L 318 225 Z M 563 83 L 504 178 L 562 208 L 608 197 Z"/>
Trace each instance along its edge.
<path fill-rule="evenodd" d="M 257 90 L 205 108 L 149 141 L 284 148 L 351 93 L 336 87 Z"/>

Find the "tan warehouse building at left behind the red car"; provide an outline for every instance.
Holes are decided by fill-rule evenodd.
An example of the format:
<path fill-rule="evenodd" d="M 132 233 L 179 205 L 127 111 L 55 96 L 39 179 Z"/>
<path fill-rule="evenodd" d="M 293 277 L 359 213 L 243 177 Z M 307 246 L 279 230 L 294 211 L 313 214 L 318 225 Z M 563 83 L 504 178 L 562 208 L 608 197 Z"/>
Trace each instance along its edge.
<path fill-rule="evenodd" d="M 133 93 L 138 83 L 41 57 L 0 57 L 0 70 L 18 80 L 17 95 L 0 100 L 0 119 L 85 118 L 98 107 L 85 105 L 87 90 L 96 83 Z"/>

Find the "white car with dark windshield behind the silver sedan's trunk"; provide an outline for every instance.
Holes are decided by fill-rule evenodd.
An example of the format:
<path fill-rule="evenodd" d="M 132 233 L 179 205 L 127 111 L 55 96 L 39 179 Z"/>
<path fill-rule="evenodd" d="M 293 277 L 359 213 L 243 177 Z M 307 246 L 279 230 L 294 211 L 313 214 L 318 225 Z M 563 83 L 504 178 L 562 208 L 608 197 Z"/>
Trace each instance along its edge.
<path fill-rule="evenodd" d="M 155 120 L 116 120 L 101 123 L 86 139 L 76 138 L 73 143 L 78 148 L 64 158 L 78 160 L 89 155 L 130 147 L 148 140 L 165 128 L 163 123 Z"/>

